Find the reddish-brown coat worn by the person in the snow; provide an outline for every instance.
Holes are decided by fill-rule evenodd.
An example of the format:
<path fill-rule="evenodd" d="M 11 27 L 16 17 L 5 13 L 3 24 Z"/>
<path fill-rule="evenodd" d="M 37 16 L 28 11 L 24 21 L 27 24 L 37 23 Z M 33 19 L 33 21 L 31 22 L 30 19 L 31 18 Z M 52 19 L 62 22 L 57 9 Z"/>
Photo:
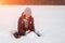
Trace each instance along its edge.
<path fill-rule="evenodd" d="M 27 30 L 31 30 L 31 31 L 35 31 L 35 26 L 34 26 L 34 17 L 28 17 L 28 28 L 25 28 L 25 23 L 23 22 L 23 19 L 26 17 L 26 15 L 24 15 L 24 14 L 22 14 L 22 16 L 18 18 L 18 27 L 17 27 L 17 29 L 18 29 L 18 33 L 21 33 L 21 34 L 25 34 L 25 32 L 27 31 Z M 22 24 L 22 22 L 23 22 L 23 24 Z M 31 24 L 30 24 L 30 22 L 31 22 Z"/>

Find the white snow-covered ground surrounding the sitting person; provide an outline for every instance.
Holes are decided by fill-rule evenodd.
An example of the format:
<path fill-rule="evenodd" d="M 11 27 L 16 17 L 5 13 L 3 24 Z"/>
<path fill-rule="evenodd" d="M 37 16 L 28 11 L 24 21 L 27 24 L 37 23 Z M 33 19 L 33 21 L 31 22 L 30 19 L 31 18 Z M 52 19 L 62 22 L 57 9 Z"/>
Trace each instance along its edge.
<path fill-rule="evenodd" d="M 31 9 L 41 37 L 30 32 L 15 39 L 12 33 L 26 8 Z M 0 43 L 65 43 L 65 5 L 0 5 Z"/>

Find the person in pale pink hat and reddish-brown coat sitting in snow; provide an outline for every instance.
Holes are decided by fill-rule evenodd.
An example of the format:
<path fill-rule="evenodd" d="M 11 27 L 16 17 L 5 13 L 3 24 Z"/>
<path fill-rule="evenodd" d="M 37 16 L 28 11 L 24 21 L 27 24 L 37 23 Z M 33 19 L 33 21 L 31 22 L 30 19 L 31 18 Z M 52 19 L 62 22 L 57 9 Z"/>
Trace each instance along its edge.
<path fill-rule="evenodd" d="M 26 31 L 34 31 L 35 32 L 35 26 L 34 26 L 34 17 L 31 16 L 31 10 L 29 8 L 26 8 L 25 11 L 22 13 L 22 16 L 18 18 L 18 26 L 17 26 L 18 32 L 14 33 L 15 38 L 20 38 L 21 35 L 25 35 Z M 36 33 L 36 32 L 35 32 Z M 40 34 L 36 33 L 38 37 Z"/>

